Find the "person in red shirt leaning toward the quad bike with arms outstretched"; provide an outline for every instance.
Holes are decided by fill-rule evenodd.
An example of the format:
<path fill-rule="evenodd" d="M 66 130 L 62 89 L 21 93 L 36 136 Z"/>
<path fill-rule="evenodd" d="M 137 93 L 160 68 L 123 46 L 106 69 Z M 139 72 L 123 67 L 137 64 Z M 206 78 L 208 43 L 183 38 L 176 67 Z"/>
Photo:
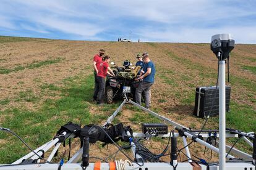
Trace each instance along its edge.
<path fill-rule="evenodd" d="M 105 55 L 102 58 L 103 62 L 100 63 L 100 67 L 98 69 L 98 74 L 96 76 L 96 101 L 97 104 L 102 105 L 103 104 L 103 97 L 105 92 L 105 78 L 106 75 L 114 76 L 113 71 L 109 67 L 108 63 L 110 62 L 110 57 L 108 55 Z"/>

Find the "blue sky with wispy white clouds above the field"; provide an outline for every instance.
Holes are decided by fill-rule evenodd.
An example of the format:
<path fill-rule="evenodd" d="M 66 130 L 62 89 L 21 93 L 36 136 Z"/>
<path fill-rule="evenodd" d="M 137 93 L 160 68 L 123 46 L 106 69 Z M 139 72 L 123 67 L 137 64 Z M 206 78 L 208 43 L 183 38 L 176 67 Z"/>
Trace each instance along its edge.
<path fill-rule="evenodd" d="M 256 1 L 0 0 L 5 36 L 208 43 L 220 33 L 256 44 Z"/>

